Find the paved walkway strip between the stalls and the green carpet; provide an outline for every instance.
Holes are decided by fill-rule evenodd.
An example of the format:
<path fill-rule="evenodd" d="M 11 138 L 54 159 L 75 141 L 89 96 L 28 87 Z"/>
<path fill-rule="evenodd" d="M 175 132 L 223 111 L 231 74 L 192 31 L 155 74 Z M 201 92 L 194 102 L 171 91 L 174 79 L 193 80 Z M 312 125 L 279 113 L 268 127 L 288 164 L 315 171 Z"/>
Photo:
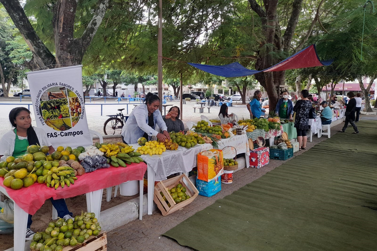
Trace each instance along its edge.
<path fill-rule="evenodd" d="M 342 126 L 343 123 L 331 128 L 331 135 L 336 134 Z M 349 128 L 348 131 L 350 130 Z M 325 136 L 321 138 L 313 137 L 313 141 L 307 143 L 307 150 L 305 151 L 310 151 L 310 148 L 326 139 L 327 137 Z M 294 155 L 297 156 L 305 151 L 296 152 Z M 172 239 L 161 236 L 161 234 L 175 227 L 180 222 L 185 221 L 196 212 L 213 204 L 217 199 L 224 198 L 226 195 L 260 178 L 283 163 L 285 163 L 285 161 L 270 160 L 270 164 L 261 169 L 245 168 L 239 170 L 234 173 L 234 182 L 232 184 L 222 184 L 221 191 L 210 198 L 198 196 L 190 205 L 168 216 L 162 216 L 159 211 L 155 211 L 152 215 L 144 216 L 143 221 L 135 220 L 122 227 L 116 228 L 107 234 L 107 247 L 109 250 L 117 251 L 192 250 L 191 248 L 179 245 Z"/>

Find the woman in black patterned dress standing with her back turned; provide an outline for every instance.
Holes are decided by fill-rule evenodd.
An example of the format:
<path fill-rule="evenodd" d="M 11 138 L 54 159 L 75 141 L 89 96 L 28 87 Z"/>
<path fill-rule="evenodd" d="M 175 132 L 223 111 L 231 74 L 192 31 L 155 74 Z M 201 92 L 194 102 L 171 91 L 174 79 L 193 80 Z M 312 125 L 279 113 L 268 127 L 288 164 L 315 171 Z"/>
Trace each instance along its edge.
<path fill-rule="evenodd" d="M 311 101 L 308 99 L 309 91 L 301 91 L 301 99 L 297 100 L 296 105 L 293 107 L 293 111 L 296 112 L 294 120 L 294 127 L 297 130 L 297 141 L 299 141 L 299 149 L 306 150 L 307 135 L 306 131 L 309 129 L 309 112 L 313 107 Z"/>

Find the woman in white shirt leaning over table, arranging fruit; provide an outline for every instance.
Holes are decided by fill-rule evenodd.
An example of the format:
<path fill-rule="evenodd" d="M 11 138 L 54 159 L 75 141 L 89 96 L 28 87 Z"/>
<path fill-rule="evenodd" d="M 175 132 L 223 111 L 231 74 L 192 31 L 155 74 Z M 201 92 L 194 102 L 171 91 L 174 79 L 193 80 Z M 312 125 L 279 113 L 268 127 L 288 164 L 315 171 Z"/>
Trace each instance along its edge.
<path fill-rule="evenodd" d="M 129 118 L 122 128 L 122 140 L 126 144 L 136 144 L 138 138 L 144 137 L 147 140 L 155 136 L 159 141 L 170 140 L 167 126 L 162 119 L 161 112 L 158 110 L 160 99 L 157 95 L 148 93 L 142 104 L 133 108 Z M 162 133 L 155 130 L 158 125 Z"/>

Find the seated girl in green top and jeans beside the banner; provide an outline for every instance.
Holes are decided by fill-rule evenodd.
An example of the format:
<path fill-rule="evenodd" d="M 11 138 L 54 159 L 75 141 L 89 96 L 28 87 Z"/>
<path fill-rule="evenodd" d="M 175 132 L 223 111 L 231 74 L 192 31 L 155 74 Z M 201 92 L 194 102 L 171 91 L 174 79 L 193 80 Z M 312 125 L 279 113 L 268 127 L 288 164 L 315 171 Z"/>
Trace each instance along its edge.
<path fill-rule="evenodd" d="M 14 129 L 6 132 L 0 140 L 0 159 L 5 159 L 8 156 L 14 158 L 22 157 L 26 154 L 26 149 L 30 145 L 48 146 L 49 154 L 55 152 L 50 141 L 48 140 L 46 132 L 42 128 L 33 127 L 31 125 L 30 111 L 25 107 L 16 107 L 9 113 L 9 121 Z M 50 198 L 52 205 L 58 211 L 58 216 L 65 220 L 73 219 L 72 213 L 68 211 L 67 204 L 64 199 Z M 34 231 L 31 230 L 32 215 L 29 214 L 26 240 L 31 240 L 34 236 Z"/>

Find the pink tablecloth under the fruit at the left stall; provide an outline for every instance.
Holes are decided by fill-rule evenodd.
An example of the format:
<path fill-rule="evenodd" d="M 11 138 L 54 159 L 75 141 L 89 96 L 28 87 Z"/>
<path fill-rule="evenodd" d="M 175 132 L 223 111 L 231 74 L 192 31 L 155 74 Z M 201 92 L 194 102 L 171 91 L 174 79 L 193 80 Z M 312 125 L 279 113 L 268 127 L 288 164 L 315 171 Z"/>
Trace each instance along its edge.
<path fill-rule="evenodd" d="M 47 187 L 45 184 L 35 183 L 30 187 L 13 190 L 3 185 L 4 178 L 0 178 L 0 186 L 4 187 L 8 195 L 19 207 L 29 214 L 34 214 L 46 199 L 70 198 L 84 193 L 93 192 L 111 186 L 116 186 L 130 180 L 143 180 L 147 165 L 143 163 L 127 165 L 127 167 L 110 167 L 95 170 L 77 176 L 75 184 L 58 189 Z"/>

